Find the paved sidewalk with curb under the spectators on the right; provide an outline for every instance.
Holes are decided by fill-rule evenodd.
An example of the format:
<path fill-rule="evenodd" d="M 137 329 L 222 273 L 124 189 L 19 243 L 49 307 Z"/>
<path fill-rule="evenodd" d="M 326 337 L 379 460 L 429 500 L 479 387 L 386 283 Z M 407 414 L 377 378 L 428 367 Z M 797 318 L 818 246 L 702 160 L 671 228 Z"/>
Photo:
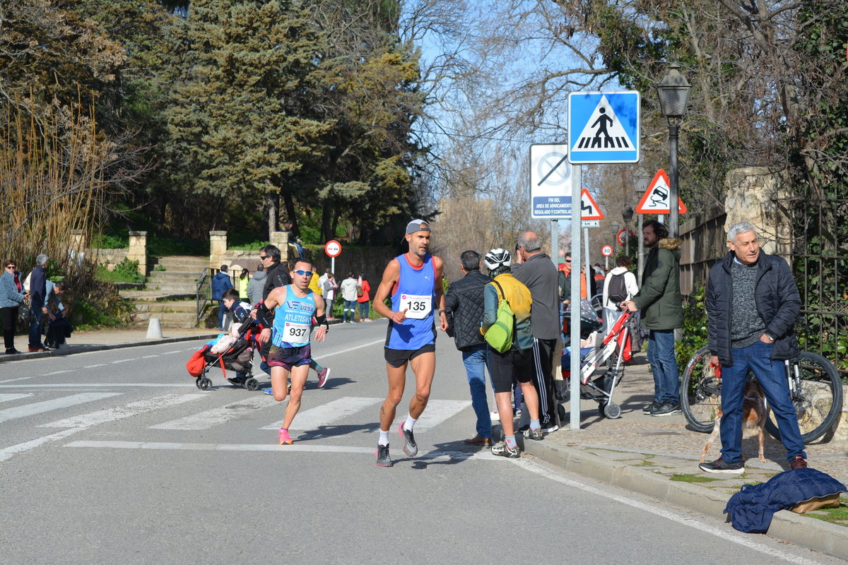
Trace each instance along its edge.
<path fill-rule="evenodd" d="M 789 469 L 783 444 L 766 434 L 767 463 L 760 463 L 757 457 L 759 444 L 754 435 L 742 440 L 742 451 L 748 457 L 745 474 L 701 471 L 700 453 L 709 435 L 687 429 L 683 414 L 651 417 L 642 413 L 653 395 L 654 379 L 644 355 L 639 355 L 628 363 L 614 391 L 613 400 L 622 407 L 621 418 L 600 417 L 598 403 L 583 400 L 580 429 L 570 429 L 566 416 L 561 429 L 545 435 L 542 441 L 519 436 L 516 440 L 527 453 L 548 463 L 719 519 L 726 518 L 724 507 L 742 485 L 765 482 Z M 567 413 L 567 402 L 565 407 Z M 718 439 L 705 461 L 717 459 L 720 450 Z M 844 484 L 848 483 L 846 451 L 848 441 L 817 440 L 806 446 L 810 466 Z M 709 482 L 689 482 L 702 479 Z M 848 559 L 845 526 L 782 510 L 774 515 L 768 535 Z"/>

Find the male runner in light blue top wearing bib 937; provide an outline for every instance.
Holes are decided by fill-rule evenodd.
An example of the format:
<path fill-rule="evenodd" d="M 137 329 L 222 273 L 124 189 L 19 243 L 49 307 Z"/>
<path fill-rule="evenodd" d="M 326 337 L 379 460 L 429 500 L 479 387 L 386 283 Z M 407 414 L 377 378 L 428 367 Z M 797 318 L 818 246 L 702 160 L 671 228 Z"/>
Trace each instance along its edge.
<path fill-rule="evenodd" d="M 256 338 L 259 343 L 271 340 L 271 352 L 268 366 L 271 367 L 271 389 L 276 402 L 286 400 L 288 374 L 292 374 L 292 391 L 286 407 L 286 418 L 280 428 L 280 445 L 292 445 L 288 435 L 288 426 L 292 425 L 294 415 L 300 409 L 300 397 L 304 393 L 306 376 L 310 372 L 312 352 L 310 335 L 312 318 L 321 326 L 315 330 L 315 341 L 324 341 L 326 323 L 324 299 L 309 289 L 312 278 L 312 264 L 298 259 L 294 270 L 290 271 L 292 284 L 278 286 L 265 301 L 259 305 L 256 318 L 265 328 Z M 276 308 L 273 325 L 267 322 L 271 309 Z"/>

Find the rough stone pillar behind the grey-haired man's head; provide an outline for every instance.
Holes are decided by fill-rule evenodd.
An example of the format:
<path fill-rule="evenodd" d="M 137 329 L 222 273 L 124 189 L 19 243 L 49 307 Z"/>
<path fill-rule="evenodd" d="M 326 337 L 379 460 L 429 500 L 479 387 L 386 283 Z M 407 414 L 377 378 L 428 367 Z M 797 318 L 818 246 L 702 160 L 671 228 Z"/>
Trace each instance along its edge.
<path fill-rule="evenodd" d="M 737 222 L 750 222 L 756 226 L 762 250 L 788 262 L 792 224 L 784 208 L 773 202 L 791 196 L 788 171 L 767 167 L 734 169 L 724 178 L 724 186 L 728 191 L 724 199 L 728 214 L 725 233 Z"/>

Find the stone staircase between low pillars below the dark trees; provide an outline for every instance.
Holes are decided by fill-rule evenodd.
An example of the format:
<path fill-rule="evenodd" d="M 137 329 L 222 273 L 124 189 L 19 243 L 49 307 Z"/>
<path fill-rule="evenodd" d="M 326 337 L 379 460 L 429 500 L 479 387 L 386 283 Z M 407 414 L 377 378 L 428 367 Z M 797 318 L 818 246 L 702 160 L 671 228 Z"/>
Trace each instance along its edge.
<path fill-rule="evenodd" d="M 197 322 L 197 280 L 209 267 L 209 258 L 164 257 L 148 262 L 154 269 L 161 265 L 165 270 L 151 271 L 142 291 L 120 291 L 120 296 L 136 305 L 135 323 L 146 326 L 149 319 L 158 318 L 163 328 L 193 328 Z"/>

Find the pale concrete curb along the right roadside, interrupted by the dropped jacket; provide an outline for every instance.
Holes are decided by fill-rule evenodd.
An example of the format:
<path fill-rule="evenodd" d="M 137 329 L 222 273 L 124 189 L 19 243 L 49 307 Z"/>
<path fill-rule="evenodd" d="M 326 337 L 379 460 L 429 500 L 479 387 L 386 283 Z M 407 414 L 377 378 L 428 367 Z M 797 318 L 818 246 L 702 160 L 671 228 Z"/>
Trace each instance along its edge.
<path fill-rule="evenodd" d="M 646 496 L 653 496 L 664 502 L 691 508 L 713 518 L 727 519 L 724 508 L 730 496 L 718 490 L 669 480 L 663 475 L 650 473 L 624 463 L 616 463 L 568 446 L 557 446 L 547 441 L 523 441 L 523 438 L 517 435 L 516 440 L 524 444 L 522 449 L 527 446 L 526 453 L 573 473 Z M 789 541 L 797 546 L 848 559 L 848 528 L 823 520 L 806 518 L 789 510 L 781 510 L 774 514 L 767 535 L 778 540 Z"/>

